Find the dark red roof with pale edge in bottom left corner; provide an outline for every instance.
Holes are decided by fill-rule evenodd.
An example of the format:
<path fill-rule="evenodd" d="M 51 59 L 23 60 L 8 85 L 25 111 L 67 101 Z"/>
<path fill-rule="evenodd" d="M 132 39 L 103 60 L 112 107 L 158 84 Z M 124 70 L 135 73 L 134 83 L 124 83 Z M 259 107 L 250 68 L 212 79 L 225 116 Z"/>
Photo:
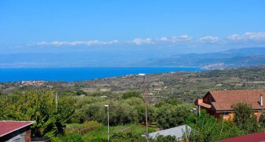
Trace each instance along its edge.
<path fill-rule="evenodd" d="M 35 122 L 33 121 L 0 121 L 0 137 L 5 136 L 17 129 L 22 129 Z"/>

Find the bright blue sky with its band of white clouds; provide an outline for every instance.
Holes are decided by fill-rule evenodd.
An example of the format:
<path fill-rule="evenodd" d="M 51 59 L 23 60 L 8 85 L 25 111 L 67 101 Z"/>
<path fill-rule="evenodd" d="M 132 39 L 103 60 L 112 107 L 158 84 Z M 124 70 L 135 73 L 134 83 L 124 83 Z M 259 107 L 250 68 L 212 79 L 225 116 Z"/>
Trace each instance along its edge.
<path fill-rule="evenodd" d="M 0 1 L 0 52 L 265 47 L 265 1 Z"/>

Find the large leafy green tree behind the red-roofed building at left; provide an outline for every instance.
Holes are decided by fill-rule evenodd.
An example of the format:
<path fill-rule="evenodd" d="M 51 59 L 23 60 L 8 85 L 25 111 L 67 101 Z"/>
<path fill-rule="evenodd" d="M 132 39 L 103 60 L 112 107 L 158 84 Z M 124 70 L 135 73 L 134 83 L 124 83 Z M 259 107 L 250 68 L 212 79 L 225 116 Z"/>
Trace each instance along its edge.
<path fill-rule="evenodd" d="M 59 97 L 56 107 L 55 91 L 25 90 L 1 96 L 1 120 L 36 121 L 31 126 L 33 137 L 63 134 L 64 127 L 75 112 L 70 96 Z"/>

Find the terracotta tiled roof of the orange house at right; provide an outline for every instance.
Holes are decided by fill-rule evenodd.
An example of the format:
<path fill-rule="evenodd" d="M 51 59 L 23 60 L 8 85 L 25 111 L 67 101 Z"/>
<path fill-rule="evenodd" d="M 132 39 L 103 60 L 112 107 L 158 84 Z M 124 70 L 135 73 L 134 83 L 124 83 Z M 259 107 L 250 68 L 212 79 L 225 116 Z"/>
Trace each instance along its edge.
<path fill-rule="evenodd" d="M 260 106 L 260 95 L 263 95 L 263 102 L 265 91 L 257 90 L 215 90 L 209 91 L 213 96 L 211 104 L 216 111 L 233 110 L 232 105 L 239 102 L 246 102 L 252 106 L 252 109 L 264 109 Z"/>

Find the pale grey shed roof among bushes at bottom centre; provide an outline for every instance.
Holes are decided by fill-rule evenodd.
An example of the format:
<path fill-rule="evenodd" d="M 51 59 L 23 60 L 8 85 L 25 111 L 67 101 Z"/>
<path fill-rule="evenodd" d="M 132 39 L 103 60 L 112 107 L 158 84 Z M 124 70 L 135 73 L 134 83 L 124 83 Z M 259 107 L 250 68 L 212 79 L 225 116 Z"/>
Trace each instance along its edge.
<path fill-rule="evenodd" d="M 191 130 L 191 128 L 188 125 L 181 125 L 179 127 L 172 127 L 170 129 L 163 129 L 161 131 L 153 132 L 149 134 L 150 138 L 156 139 L 156 136 L 158 135 L 171 135 L 171 136 L 176 136 L 177 139 L 182 140 L 182 134 L 185 132 L 186 127 Z"/>

